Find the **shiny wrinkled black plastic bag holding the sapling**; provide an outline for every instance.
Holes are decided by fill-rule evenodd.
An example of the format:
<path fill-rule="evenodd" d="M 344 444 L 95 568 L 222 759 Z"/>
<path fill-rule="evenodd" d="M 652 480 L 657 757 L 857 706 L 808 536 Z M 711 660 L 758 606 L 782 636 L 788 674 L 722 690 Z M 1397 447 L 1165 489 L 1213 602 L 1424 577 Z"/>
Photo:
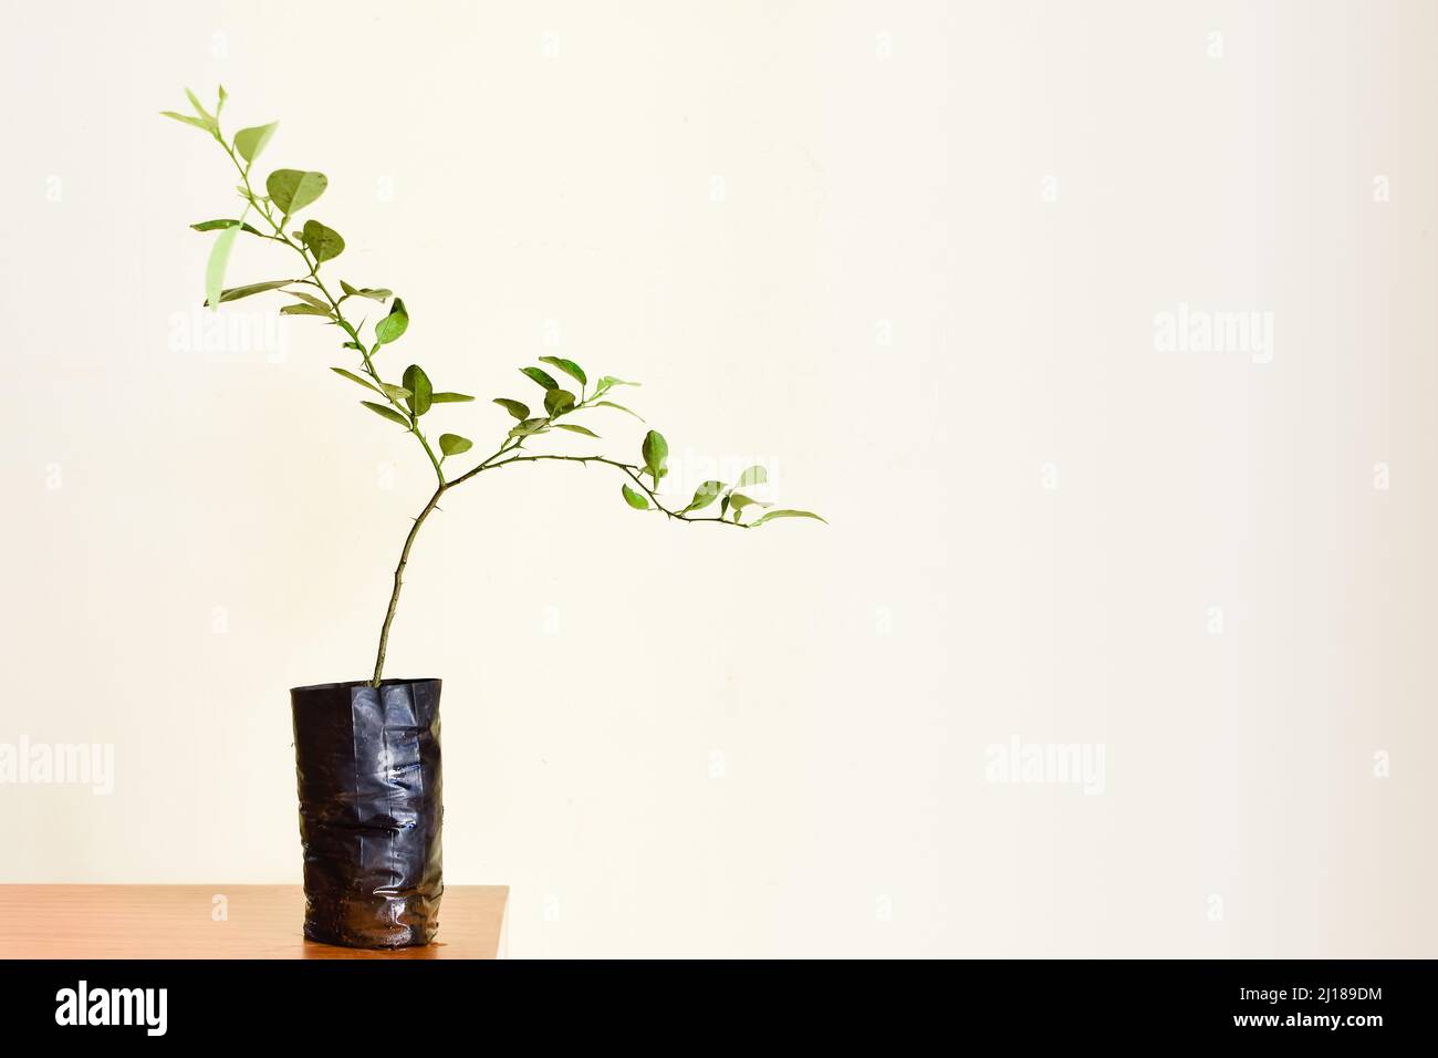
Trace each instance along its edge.
<path fill-rule="evenodd" d="M 440 681 L 296 687 L 305 936 L 429 944 L 444 892 Z"/>

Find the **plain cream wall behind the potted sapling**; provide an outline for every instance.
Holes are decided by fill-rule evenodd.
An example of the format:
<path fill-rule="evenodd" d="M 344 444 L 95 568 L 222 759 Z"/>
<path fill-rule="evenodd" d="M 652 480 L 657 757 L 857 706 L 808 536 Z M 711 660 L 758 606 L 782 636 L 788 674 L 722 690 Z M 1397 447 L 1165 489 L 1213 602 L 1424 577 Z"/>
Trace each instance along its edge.
<path fill-rule="evenodd" d="M 512 954 L 1434 954 L 1432 4 L 4 17 L 0 741 L 116 774 L 0 787 L 0 881 L 298 881 L 288 688 L 368 674 L 431 487 L 332 331 L 194 330 L 234 176 L 157 111 L 223 82 L 406 297 L 391 369 L 483 399 L 437 426 L 567 356 L 673 495 L 831 521 L 539 465 L 426 527 L 388 672 Z M 1271 363 L 1158 351 L 1179 304 Z M 1012 738 L 1103 792 L 988 782 Z"/>

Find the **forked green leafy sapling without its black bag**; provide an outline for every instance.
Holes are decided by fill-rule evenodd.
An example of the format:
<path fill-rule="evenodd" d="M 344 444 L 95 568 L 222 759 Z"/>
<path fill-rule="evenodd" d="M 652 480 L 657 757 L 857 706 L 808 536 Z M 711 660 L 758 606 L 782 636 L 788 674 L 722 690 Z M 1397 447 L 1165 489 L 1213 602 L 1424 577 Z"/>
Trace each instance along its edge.
<path fill-rule="evenodd" d="M 270 138 L 275 135 L 278 122 L 256 125 L 239 130 L 233 138 L 226 138 L 220 127 L 220 114 L 224 109 L 227 94 L 220 86 L 219 101 L 214 112 L 207 111 L 194 92 L 186 89 L 194 114 L 177 114 L 162 111 L 164 117 L 174 118 L 187 125 L 201 130 L 210 135 L 229 155 L 240 174 L 239 191 L 243 209 L 239 217 L 204 220 L 191 225 L 197 232 L 217 232 L 210 259 L 206 266 L 204 286 L 206 305 L 219 309 L 227 301 L 239 301 L 256 294 L 279 292 L 293 301 L 279 311 L 285 315 L 303 315 L 322 320 L 325 324 L 338 327 L 342 334 L 342 347 L 348 350 L 358 363 L 351 367 L 332 367 L 331 370 L 370 390 L 360 403 L 380 416 L 385 422 L 401 428 L 411 435 L 416 443 L 424 451 L 430 465 L 434 468 L 436 488 L 429 502 L 414 518 L 404 547 L 400 551 L 400 563 L 394 567 L 394 587 L 390 593 L 390 606 L 380 628 L 380 648 L 374 661 L 374 677 L 371 684 L 380 685 L 384 675 L 384 655 L 390 643 L 390 628 L 394 623 L 394 613 L 400 605 L 400 589 L 404 584 L 404 567 L 410 561 L 410 550 L 420 534 L 424 521 L 439 507 L 440 499 L 453 488 L 473 481 L 480 474 L 498 471 L 500 466 L 515 464 L 533 464 L 544 461 L 561 461 L 577 464 L 600 464 L 617 471 L 624 481 L 620 492 L 636 511 L 657 511 L 667 518 L 684 523 L 707 523 L 713 525 L 728 525 L 731 528 L 758 528 L 777 518 L 817 518 L 812 511 L 795 511 L 789 508 L 768 510 L 756 518 L 746 511 L 754 508 L 768 508 L 771 504 L 755 499 L 741 489 L 762 485 L 768 481 L 768 474 L 762 466 L 751 466 L 738 476 L 733 484 L 723 481 L 706 481 L 695 489 L 693 498 L 683 507 L 669 505 L 660 499 L 660 482 L 663 482 L 669 459 L 669 442 L 657 430 L 649 430 L 640 446 L 640 462 L 624 462 L 603 455 L 565 455 L 535 452 L 526 448 L 539 443 L 538 439 L 551 435 L 551 439 L 577 435 L 578 438 L 598 440 L 600 436 L 591 430 L 580 416 L 584 412 L 608 409 L 640 416 L 624 404 L 610 400 L 614 390 L 624 386 L 638 386 L 636 381 L 626 381 L 605 374 L 590 383 L 590 376 L 580 364 L 564 357 L 539 357 L 539 363 L 564 376 L 564 383 L 546 367 L 521 367 L 532 383 L 542 390 L 541 406 L 531 409 L 522 400 L 513 397 L 495 397 L 495 403 L 513 417 L 513 425 L 505 432 L 499 446 L 483 459 L 470 461 L 463 469 L 450 469 L 475 448 L 475 442 L 460 433 L 440 433 L 431 440 L 426 432 L 426 416 L 440 404 L 457 404 L 472 402 L 475 397 L 467 393 L 453 390 L 437 390 L 429 374 L 418 364 L 410 364 L 400 374 L 398 381 L 387 381 L 375 366 L 375 358 L 385 345 L 393 345 L 404 337 L 410 325 L 410 314 L 404 301 L 394 297 L 394 292 L 383 286 L 355 286 L 344 279 L 338 281 L 338 297 L 335 297 L 335 279 L 331 272 L 321 276 L 321 271 L 345 249 L 345 240 L 335 229 L 319 220 L 305 220 L 298 229 L 290 229 L 295 214 L 312 206 L 329 186 L 324 173 L 301 168 L 276 168 L 265 178 L 263 194 L 255 189 L 252 168 Z M 253 220 L 253 223 L 252 223 Z M 290 230 L 286 230 L 290 229 Z M 298 265 L 303 269 L 299 275 L 288 279 L 265 279 L 246 284 L 243 286 L 224 286 L 226 268 L 236 239 L 240 236 L 265 239 L 285 248 L 298 258 Z M 332 269 L 331 269 L 332 271 Z M 355 302 L 358 299 L 358 302 Z M 355 304 L 388 304 L 388 312 L 380 317 L 371 328 L 368 338 L 364 337 L 364 322 L 358 327 L 345 315 L 345 302 Z M 393 374 L 391 374 L 393 379 Z M 575 392 L 578 386 L 578 392 Z M 643 422 L 643 419 L 641 419 Z M 564 430 L 564 435 L 555 433 Z"/>

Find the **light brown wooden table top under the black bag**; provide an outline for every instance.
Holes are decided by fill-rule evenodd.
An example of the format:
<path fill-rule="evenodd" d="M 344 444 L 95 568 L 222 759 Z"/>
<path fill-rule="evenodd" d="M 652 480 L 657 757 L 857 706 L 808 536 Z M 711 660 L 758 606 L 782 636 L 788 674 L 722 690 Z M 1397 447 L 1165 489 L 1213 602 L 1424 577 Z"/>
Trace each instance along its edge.
<path fill-rule="evenodd" d="M 299 885 L 0 885 L 0 959 L 498 959 L 508 885 L 449 885 L 433 944 L 305 940 Z"/>

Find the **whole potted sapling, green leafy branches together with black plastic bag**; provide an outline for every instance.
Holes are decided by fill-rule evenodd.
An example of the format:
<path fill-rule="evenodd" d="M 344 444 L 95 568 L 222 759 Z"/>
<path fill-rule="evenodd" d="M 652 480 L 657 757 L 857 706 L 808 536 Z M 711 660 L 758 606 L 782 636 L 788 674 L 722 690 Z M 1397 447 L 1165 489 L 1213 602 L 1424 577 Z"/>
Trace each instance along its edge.
<path fill-rule="evenodd" d="M 810 511 L 765 510 L 769 504 L 743 492 L 768 481 L 762 466 L 751 466 L 732 484 L 706 481 L 683 505 L 666 502 L 660 487 L 667 474 L 669 445 L 657 430 L 644 435 L 637 462 L 536 451 L 541 439 L 581 440 L 587 446 L 597 440 L 584 413 L 604 409 L 638 417 L 611 399 L 615 390 L 638 383 L 614 376 L 591 383 L 580 364 L 558 356 L 539 357 L 544 366 L 519 369 L 539 387 L 538 407 L 531 409 L 516 397 L 495 397 L 513 422 L 490 455 L 470 456 L 475 445 L 460 433 L 433 438 L 426 429 L 431 422 L 427 416 L 443 404 L 467 403 L 473 397 L 436 389 L 418 364 L 406 367 L 398 380 L 393 371 L 387 380 L 377 367 L 378 354 L 398 343 L 410 324 L 404 301 L 384 288 L 336 282 L 329 272 L 322 276 L 324 266 L 344 252 L 344 238 L 315 219 L 290 227 L 292 222 L 298 225 L 295 216 L 324 194 L 328 186 L 324 173 L 278 168 L 265 178 L 263 190 L 257 189 L 252 170 L 276 124 L 242 128 L 226 138 L 220 128 L 224 88 L 213 114 L 193 92 L 186 94 L 194 114 L 164 111 L 164 115 L 210 135 L 240 178 L 239 216 L 191 225 L 214 233 L 204 276 L 206 305 L 219 309 L 230 301 L 276 292 L 290 298 L 279 309 L 282 314 L 315 317 L 336 327 L 349 366 L 331 370 L 347 384 L 364 389 L 360 404 L 367 413 L 413 438 L 434 471 L 434 492 L 414 518 L 394 567 L 372 675 L 290 691 L 305 856 L 305 936 L 352 947 L 427 944 L 439 926 L 443 892 L 440 681 L 385 679 L 384 658 L 414 541 L 440 499 L 492 471 L 557 461 L 610 468 L 620 478 L 620 494 L 630 508 L 657 511 L 673 521 L 749 530 L 778 518 L 823 518 Z M 226 286 L 226 266 L 240 238 L 275 243 L 295 265 L 288 269 L 290 278 Z M 355 304 L 388 307 L 368 337 L 364 322 L 355 325 L 348 315 Z M 762 512 L 751 517 L 751 508 Z"/>

